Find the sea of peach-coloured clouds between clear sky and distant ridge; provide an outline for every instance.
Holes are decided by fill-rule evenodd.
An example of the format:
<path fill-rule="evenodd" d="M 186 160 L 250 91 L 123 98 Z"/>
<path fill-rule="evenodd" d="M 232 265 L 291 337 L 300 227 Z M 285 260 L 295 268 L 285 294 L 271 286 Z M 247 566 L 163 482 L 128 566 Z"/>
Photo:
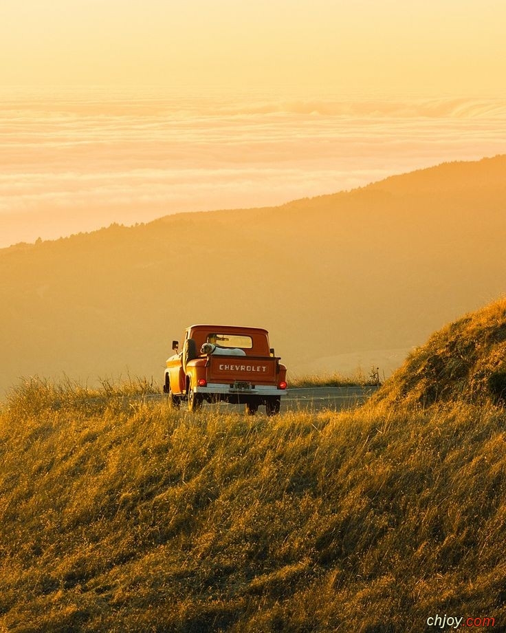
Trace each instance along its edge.
<path fill-rule="evenodd" d="M 506 152 L 506 100 L 3 89 L 0 247 Z"/>

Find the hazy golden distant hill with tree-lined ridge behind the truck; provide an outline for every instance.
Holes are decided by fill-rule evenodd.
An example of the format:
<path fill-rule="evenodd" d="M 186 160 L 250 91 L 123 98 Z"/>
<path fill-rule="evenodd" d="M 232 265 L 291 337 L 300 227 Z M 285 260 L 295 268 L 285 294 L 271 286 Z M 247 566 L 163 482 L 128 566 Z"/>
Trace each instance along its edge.
<path fill-rule="evenodd" d="M 506 156 L 275 208 L 184 213 L 0 250 L 0 389 L 154 376 L 190 323 L 260 325 L 292 373 L 390 372 L 505 290 Z"/>

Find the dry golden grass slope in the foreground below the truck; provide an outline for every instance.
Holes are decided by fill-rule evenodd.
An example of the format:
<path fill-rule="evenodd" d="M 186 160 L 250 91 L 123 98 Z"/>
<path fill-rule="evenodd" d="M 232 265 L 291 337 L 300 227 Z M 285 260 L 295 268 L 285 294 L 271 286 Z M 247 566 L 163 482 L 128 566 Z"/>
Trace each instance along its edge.
<path fill-rule="evenodd" d="M 30 381 L 2 407 L 0 630 L 503 627 L 504 409 L 190 416 L 151 391 Z"/>

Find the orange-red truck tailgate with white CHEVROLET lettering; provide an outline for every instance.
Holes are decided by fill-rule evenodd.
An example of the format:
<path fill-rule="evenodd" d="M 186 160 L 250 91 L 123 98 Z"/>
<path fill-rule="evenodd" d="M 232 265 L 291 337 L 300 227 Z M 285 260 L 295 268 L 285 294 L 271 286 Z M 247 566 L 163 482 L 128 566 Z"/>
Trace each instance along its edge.
<path fill-rule="evenodd" d="M 272 356 L 208 357 L 208 383 L 276 385 L 278 358 Z"/>

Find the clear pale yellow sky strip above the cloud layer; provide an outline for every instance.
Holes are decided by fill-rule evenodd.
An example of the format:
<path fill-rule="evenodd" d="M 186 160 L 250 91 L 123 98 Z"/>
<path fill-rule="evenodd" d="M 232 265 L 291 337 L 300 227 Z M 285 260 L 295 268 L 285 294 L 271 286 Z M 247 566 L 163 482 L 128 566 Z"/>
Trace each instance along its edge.
<path fill-rule="evenodd" d="M 4 0 L 0 83 L 487 94 L 504 0 Z"/>

